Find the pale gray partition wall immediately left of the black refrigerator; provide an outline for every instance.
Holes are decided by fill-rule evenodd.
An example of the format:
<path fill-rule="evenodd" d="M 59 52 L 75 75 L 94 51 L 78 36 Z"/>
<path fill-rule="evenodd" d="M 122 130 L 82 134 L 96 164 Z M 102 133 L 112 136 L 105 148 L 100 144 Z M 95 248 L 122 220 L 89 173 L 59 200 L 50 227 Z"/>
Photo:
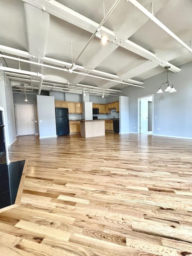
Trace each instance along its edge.
<path fill-rule="evenodd" d="M 55 137 L 55 99 L 52 96 L 37 95 L 39 137 Z M 42 120 L 42 122 L 40 122 Z"/>

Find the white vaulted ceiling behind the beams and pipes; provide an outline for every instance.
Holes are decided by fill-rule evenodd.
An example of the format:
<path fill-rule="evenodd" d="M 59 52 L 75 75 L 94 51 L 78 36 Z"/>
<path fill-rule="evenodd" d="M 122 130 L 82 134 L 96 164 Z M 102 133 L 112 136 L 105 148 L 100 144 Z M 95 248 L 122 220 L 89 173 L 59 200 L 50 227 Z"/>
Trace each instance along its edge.
<path fill-rule="evenodd" d="M 72 42 L 74 62 L 104 18 L 104 7 L 106 14 L 114 2 L 115 0 L 52 0 L 51 3 L 46 0 L 1 0 L 0 44 L 23 50 L 32 56 L 49 57 L 72 63 L 70 42 Z M 138 0 L 138 2 L 148 11 L 152 11 L 151 0 Z M 42 10 L 43 6 L 45 11 Z M 49 14 L 49 8 L 52 14 Z M 153 0 L 153 12 L 156 18 L 190 46 L 192 40 L 191 0 Z M 125 0 L 119 2 L 104 23 L 101 35 L 105 33 L 110 36 L 110 41 L 102 45 L 98 38 L 94 38 L 83 51 L 76 65 L 137 81 L 165 71 L 164 67 L 157 63 L 127 50 L 127 39 L 154 53 L 164 62 L 175 66 L 192 60 L 191 53 Z M 122 44 L 118 46 L 112 43 L 115 37 L 118 40 L 122 39 Z M 5 60 L 8 67 L 19 68 L 18 61 Z M 0 62 L 6 66 L 2 58 Z M 82 74 L 70 74 L 25 62 L 21 62 L 21 69 L 62 77 L 70 83 L 104 89 L 121 89 L 127 86 L 118 81 L 112 82 Z M 104 77 L 111 78 L 109 75 Z M 127 82 L 130 83 L 130 81 Z"/>

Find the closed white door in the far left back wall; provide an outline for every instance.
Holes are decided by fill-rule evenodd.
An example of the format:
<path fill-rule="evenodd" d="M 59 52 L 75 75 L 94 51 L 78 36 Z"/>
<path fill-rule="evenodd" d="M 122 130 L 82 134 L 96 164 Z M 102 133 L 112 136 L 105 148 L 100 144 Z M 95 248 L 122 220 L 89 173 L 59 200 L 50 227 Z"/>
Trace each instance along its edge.
<path fill-rule="evenodd" d="M 17 135 L 30 135 L 34 132 L 33 105 L 15 104 Z"/>

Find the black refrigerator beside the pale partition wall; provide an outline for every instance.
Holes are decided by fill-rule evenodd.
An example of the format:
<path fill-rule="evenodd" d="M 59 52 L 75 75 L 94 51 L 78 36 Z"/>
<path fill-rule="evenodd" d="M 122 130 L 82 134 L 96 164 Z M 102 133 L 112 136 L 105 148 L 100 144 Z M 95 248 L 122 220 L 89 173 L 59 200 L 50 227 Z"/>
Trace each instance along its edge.
<path fill-rule="evenodd" d="M 69 135 L 68 108 L 55 107 L 57 135 Z"/>

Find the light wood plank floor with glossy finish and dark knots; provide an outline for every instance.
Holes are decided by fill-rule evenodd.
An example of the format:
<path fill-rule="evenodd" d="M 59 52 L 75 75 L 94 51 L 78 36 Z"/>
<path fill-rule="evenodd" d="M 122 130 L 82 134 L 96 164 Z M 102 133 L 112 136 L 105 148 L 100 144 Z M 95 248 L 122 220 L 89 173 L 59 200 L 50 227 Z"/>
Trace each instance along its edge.
<path fill-rule="evenodd" d="M 0 255 L 192 255 L 191 140 L 25 136 L 9 154 L 29 161 Z"/>

